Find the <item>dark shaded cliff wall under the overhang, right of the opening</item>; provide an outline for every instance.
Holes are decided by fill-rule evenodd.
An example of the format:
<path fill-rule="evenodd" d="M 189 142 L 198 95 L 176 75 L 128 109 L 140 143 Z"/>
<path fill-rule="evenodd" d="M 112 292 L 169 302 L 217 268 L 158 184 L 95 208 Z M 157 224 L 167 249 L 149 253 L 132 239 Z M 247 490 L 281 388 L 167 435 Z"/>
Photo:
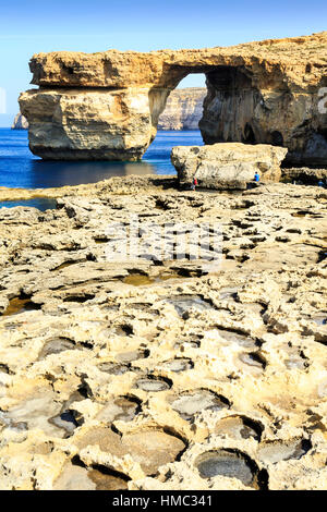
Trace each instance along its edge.
<path fill-rule="evenodd" d="M 327 164 L 327 115 L 319 112 L 319 88 L 290 87 L 283 81 L 271 85 L 269 78 L 254 84 L 251 75 L 232 68 L 211 73 L 207 84 L 199 122 L 205 144 L 284 146 L 293 164 Z"/>

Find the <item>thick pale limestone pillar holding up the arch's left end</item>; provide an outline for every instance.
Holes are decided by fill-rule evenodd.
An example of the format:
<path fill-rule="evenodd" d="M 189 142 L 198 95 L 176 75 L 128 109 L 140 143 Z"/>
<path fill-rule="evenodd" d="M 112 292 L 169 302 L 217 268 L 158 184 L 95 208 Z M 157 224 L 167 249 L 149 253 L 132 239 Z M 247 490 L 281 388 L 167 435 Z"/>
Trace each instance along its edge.
<path fill-rule="evenodd" d="M 29 147 L 45 159 L 137 160 L 154 138 L 148 88 L 29 90 Z"/>

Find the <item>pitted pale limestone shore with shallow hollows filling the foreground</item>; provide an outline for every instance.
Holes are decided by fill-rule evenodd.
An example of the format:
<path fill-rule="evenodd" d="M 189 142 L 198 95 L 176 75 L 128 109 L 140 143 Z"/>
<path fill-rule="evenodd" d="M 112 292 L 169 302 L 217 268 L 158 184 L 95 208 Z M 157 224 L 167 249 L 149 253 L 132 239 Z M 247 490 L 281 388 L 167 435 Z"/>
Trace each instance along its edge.
<path fill-rule="evenodd" d="M 327 488 L 327 191 L 175 183 L 0 190 L 58 204 L 0 209 L 0 489 Z M 108 260 L 131 214 L 219 269 Z"/>

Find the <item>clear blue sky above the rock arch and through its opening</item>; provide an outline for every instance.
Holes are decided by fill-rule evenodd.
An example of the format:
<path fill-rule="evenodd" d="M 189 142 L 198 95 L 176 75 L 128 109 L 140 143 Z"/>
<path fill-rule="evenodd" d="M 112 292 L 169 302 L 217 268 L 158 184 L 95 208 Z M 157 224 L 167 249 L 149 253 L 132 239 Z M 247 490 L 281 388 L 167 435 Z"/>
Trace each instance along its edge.
<path fill-rule="evenodd" d="M 9 125 L 20 92 L 31 87 L 29 58 L 39 51 L 150 51 L 229 46 L 327 29 L 326 0 L 15 0 L 0 8 L 0 88 Z M 181 86 L 202 86 L 190 75 Z"/>

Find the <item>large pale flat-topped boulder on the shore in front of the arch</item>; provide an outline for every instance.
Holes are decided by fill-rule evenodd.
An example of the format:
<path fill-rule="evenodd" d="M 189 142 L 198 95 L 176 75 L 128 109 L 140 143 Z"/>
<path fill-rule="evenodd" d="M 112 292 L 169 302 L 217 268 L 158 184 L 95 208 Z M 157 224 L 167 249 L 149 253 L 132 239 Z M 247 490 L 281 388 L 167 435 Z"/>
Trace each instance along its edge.
<path fill-rule="evenodd" d="M 246 188 L 258 172 L 261 180 L 279 181 L 280 162 L 288 150 L 267 144 L 220 143 L 211 146 L 177 146 L 171 162 L 181 185 L 196 178 L 205 188 Z"/>

